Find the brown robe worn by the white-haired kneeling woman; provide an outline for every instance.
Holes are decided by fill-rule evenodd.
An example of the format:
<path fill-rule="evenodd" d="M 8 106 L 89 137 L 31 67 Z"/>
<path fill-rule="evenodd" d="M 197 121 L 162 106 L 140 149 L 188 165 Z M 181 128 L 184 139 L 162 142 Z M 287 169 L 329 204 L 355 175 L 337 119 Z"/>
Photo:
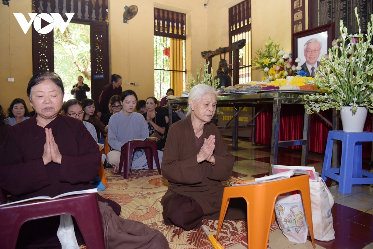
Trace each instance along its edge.
<path fill-rule="evenodd" d="M 207 161 L 197 163 L 204 138 L 215 136 L 215 165 Z M 235 157 L 228 151 L 228 146 L 215 124 L 204 125 L 202 142 L 195 143 L 191 117 L 187 117 L 170 126 L 162 160 L 162 174 L 169 181 L 169 187 L 161 204 L 173 193 L 192 197 L 203 209 L 203 218 L 218 220 L 224 185 L 220 181 L 228 180 L 232 174 Z M 242 210 L 228 212 L 225 219 L 245 217 Z"/>

